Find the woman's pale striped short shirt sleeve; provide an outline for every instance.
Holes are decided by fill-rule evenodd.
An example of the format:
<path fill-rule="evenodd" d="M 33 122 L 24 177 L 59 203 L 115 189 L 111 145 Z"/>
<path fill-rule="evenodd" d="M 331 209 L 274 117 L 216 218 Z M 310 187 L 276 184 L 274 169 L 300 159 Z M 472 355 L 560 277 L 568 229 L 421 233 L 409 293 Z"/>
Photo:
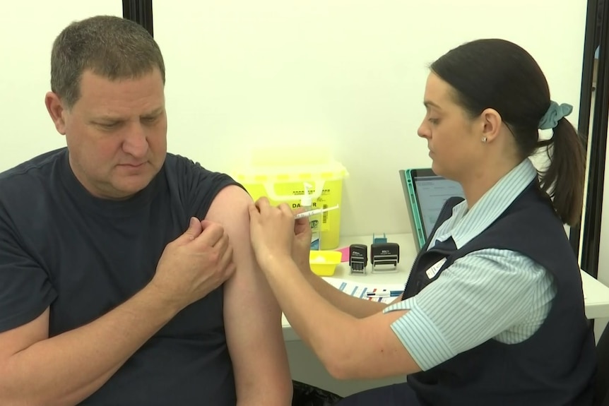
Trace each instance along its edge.
<path fill-rule="evenodd" d="M 409 310 L 391 329 L 426 371 L 491 338 L 526 340 L 545 320 L 555 293 L 552 275 L 530 258 L 483 249 L 384 311 Z"/>

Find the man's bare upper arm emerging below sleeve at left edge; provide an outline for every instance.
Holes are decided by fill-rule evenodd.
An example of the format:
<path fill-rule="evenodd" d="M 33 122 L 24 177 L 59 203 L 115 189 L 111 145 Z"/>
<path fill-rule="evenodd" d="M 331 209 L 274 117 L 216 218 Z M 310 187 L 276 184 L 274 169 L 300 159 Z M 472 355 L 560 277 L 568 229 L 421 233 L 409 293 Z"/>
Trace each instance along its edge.
<path fill-rule="evenodd" d="M 0 371 L 14 354 L 47 338 L 49 338 L 48 308 L 29 323 L 0 333 Z"/>

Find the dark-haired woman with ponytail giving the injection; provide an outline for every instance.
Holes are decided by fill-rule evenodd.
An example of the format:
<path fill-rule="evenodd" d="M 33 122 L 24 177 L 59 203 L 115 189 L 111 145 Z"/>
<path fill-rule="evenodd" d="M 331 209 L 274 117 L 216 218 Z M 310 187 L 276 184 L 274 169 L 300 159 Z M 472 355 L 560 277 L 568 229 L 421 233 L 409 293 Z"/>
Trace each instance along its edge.
<path fill-rule="evenodd" d="M 504 40 L 435 61 L 423 104 L 434 172 L 466 200 L 449 200 L 385 307 L 316 277 L 307 222 L 261 198 L 252 244 L 285 316 L 337 378 L 408 376 L 339 405 L 590 405 L 594 342 L 563 229 L 579 222 L 584 184 L 572 107 L 550 101 L 536 61 Z M 538 174 L 528 157 L 547 145 Z"/>

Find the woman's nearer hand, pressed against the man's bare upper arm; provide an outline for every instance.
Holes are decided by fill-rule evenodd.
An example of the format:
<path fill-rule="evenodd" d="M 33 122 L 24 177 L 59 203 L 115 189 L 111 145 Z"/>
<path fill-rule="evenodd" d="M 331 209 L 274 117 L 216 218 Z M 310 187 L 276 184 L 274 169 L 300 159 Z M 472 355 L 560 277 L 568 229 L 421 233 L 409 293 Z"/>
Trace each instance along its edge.
<path fill-rule="evenodd" d="M 249 232 L 261 267 L 276 260 L 291 260 L 294 213 L 286 203 L 274 207 L 261 197 L 249 207 Z"/>

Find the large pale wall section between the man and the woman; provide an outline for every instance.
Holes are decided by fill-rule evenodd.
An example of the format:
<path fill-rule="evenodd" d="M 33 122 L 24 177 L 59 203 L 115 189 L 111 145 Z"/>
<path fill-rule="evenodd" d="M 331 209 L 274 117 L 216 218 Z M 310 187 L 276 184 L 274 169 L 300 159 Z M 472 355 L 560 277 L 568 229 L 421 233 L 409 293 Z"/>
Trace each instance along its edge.
<path fill-rule="evenodd" d="M 397 172 L 430 165 L 416 136 L 427 66 L 462 42 L 503 37 L 524 46 L 545 71 L 552 97 L 574 105 L 569 119 L 577 123 L 581 1 L 180 4 L 154 3 L 155 38 L 167 63 L 170 149 L 231 171 L 256 145 L 331 148 L 350 172 L 344 235 L 408 230 Z"/>

